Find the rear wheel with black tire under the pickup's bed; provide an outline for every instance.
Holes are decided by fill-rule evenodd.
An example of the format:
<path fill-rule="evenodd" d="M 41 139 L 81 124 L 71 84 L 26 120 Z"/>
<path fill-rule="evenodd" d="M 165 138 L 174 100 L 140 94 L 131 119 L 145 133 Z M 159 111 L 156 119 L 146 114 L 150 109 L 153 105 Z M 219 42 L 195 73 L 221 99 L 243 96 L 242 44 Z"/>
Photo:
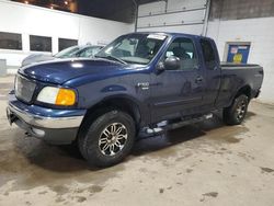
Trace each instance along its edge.
<path fill-rule="evenodd" d="M 239 125 L 244 119 L 249 105 L 246 94 L 237 96 L 231 106 L 224 108 L 224 122 L 228 125 Z"/>

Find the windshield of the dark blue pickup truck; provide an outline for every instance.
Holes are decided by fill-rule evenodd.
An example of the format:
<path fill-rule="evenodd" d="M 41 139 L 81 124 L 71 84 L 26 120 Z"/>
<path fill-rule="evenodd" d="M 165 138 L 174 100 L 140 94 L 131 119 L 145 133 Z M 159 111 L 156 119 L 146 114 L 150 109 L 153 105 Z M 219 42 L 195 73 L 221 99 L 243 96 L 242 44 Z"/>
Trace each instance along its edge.
<path fill-rule="evenodd" d="M 115 39 L 99 52 L 95 57 L 119 59 L 127 64 L 147 65 L 159 52 L 167 35 L 129 34 Z"/>

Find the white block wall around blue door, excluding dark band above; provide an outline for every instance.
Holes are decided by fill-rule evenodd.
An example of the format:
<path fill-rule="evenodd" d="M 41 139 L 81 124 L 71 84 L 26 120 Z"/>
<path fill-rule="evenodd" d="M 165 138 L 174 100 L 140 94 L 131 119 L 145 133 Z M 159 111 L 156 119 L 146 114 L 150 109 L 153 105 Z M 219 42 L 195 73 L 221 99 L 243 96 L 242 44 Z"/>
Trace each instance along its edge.
<path fill-rule="evenodd" d="M 230 21 L 213 21 L 208 24 L 207 36 L 218 46 L 224 59 L 227 42 L 251 42 L 249 64 L 264 68 L 264 81 L 260 101 L 274 103 L 274 18 L 259 18 Z"/>

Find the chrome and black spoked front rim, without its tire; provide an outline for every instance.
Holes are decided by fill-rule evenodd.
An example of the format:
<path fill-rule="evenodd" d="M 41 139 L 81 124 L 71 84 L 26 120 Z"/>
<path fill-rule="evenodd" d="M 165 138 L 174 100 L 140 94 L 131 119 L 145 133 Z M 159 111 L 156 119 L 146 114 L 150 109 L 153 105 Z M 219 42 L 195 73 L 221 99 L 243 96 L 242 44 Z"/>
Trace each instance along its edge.
<path fill-rule="evenodd" d="M 122 123 L 112 123 L 106 126 L 99 138 L 99 149 L 104 156 L 115 156 L 126 145 L 127 129 Z"/>

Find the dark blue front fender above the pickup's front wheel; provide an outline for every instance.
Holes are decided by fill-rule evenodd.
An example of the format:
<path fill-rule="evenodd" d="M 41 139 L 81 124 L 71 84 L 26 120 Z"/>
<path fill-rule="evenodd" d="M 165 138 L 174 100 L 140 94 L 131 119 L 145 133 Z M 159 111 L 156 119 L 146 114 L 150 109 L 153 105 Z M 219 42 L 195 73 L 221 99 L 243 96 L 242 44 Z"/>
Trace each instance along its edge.
<path fill-rule="evenodd" d="M 149 90 L 141 90 L 139 82 L 149 82 L 149 73 L 135 73 L 113 77 L 77 88 L 79 92 L 79 107 L 90 110 L 93 106 L 114 99 L 125 100 L 138 106 L 141 119 L 150 121 Z"/>

